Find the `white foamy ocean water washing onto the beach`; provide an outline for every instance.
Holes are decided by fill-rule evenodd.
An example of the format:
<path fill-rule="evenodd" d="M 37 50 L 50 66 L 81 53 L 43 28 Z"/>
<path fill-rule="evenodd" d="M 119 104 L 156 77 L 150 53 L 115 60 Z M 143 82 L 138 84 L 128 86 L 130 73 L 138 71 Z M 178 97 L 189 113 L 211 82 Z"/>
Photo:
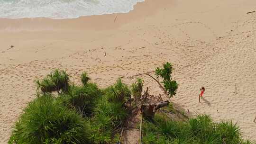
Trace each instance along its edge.
<path fill-rule="evenodd" d="M 144 0 L 0 0 L 0 18 L 78 18 L 126 13 Z"/>

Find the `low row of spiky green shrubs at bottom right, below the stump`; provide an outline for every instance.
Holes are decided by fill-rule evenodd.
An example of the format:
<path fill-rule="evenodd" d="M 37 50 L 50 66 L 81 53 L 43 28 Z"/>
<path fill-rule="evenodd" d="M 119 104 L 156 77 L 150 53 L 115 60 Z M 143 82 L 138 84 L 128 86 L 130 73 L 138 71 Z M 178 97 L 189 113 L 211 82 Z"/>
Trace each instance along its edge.
<path fill-rule="evenodd" d="M 156 114 L 153 121 L 143 124 L 143 144 L 254 144 L 243 140 L 237 124 L 214 123 L 208 115 L 173 121 Z"/>

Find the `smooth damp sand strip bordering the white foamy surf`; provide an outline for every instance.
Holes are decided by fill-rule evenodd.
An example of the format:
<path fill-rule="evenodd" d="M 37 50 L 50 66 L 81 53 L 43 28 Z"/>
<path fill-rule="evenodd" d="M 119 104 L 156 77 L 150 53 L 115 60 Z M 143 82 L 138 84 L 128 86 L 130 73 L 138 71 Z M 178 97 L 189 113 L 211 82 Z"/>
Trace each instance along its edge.
<path fill-rule="evenodd" d="M 165 0 L 166 1 L 166 0 Z M 157 2 L 154 2 L 153 0 L 146 0 L 143 2 L 137 2 L 136 5 L 134 5 L 134 9 L 130 10 L 127 13 L 113 13 L 113 14 L 102 14 L 102 15 L 90 15 L 90 16 L 80 16 L 78 18 L 62 18 L 62 19 L 54 19 L 54 18 L 44 18 L 44 17 L 39 17 L 39 18 L 0 18 L 0 32 L 1 31 L 8 31 L 8 24 L 12 24 L 14 26 L 12 27 L 26 27 L 26 24 L 30 24 L 33 26 L 37 26 L 38 27 L 47 27 L 47 25 L 53 25 L 53 28 L 57 28 L 58 25 L 60 24 L 64 24 L 64 23 L 68 23 L 68 24 L 86 24 L 86 22 L 90 22 L 91 24 L 86 24 L 83 27 L 77 27 L 77 29 L 109 29 L 109 28 L 113 28 L 110 27 L 110 25 L 115 25 L 115 26 L 120 26 L 120 24 L 125 24 L 127 22 L 132 22 L 134 20 L 137 20 L 138 18 L 144 18 L 146 15 L 150 16 L 152 14 L 155 13 L 155 11 L 157 11 L 160 7 L 155 7 L 155 5 Z M 149 9 L 149 8 L 153 8 L 155 7 L 155 9 Z M 115 21 L 114 20 L 116 18 L 116 16 L 119 16 L 121 18 L 119 18 L 118 20 Z M 135 18 L 135 19 L 128 19 L 128 18 Z M 22 23 L 25 24 L 21 24 L 20 22 L 22 21 Z M 105 26 L 103 25 L 95 25 L 97 24 L 99 21 L 101 22 L 105 22 Z M 6 23 L 6 25 L 4 24 Z M 114 23 L 114 24 L 113 24 Z M 65 27 L 63 27 L 62 29 L 66 30 L 66 29 L 70 29 L 70 28 L 74 28 L 74 27 L 68 27 L 68 24 L 64 24 Z M 116 27 L 114 27 L 116 28 Z M 31 28 L 32 29 L 32 28 Z M 28 30 L 28 29 L 21 29 L 21 30 Z M 37 29 L 35 29 L 37 30 Z M 39 31 L 42 29 L 38 29 Z M 44 29 L 43 29 L 44 30 Z M 72 29 L 74 30 L 74 29 Z"/>

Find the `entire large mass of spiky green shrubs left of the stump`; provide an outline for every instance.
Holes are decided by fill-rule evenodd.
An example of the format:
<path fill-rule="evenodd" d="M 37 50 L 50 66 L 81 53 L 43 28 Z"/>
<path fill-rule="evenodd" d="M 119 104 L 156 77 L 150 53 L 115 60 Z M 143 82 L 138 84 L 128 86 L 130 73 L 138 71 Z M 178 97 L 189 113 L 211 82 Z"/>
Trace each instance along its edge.
<path fill-rule="evenodd" d="M 70 85 L 68 74 L 59 70 L 37 80 L 42 93 L 24 109 L 9 144 L 115 143 L 118 131 L 113 131 L 130 112 L 131 90 L 121 80 L 102 90 L 89 80 L 83 72 L 82 86 Z"/>

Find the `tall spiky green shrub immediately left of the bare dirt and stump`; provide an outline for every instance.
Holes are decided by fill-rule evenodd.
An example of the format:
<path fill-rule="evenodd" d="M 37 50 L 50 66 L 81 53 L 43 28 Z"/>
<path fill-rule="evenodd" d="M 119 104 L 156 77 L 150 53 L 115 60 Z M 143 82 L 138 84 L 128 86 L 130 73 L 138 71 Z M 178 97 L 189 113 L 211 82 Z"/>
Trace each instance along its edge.
<path fill-rule="evenodd" d="M 128 117 L 128 107 L 125 105 L 130 99 L 128 86 L 118 80 L 117 83 L 103 90 L 103 96 L 94 109 L 91 119 L 95 144 L 112 144 L 113 130 L 122 126 Z"/>

